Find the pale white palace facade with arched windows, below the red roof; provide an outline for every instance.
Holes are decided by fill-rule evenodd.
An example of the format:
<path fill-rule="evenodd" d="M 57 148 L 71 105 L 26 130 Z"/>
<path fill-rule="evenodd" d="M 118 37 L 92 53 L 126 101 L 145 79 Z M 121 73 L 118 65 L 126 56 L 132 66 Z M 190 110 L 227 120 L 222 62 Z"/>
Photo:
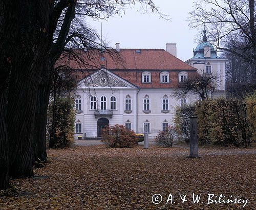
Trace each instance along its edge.
<path fill-rule="evenodd" d="M 173 91 L 173 88 L 138 88 L 101 69 L 79 82 L 76 102 L 81 106 L 76 106 L 75 138 L 99 137 L 105 121 L 111 126 L 125 125 L 137 133 L 143 133 L 144 124 L 148 123 L 149 136 L 153 138 L 163 126 L 174 125 L 175 107 L 181 106 L 181 99 L 172 97 Z M 190 103 L 196 98 L 190 95 L 182 100 Z"/>

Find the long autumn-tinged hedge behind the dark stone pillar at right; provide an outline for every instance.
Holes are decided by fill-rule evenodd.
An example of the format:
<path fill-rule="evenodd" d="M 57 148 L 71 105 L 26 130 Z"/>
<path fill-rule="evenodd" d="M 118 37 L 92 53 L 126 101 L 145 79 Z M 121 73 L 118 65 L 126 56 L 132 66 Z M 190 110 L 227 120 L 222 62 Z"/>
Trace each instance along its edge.
<path fill-rule="evenodd" d="M 255 140 L 255 94 L 245 100 L 215 99 L 197 102 L 194 107 L 177 108 L 175 123 L 179 138 L 189 138 L 189 116 L 198 117 L 198 141 L 222 146 L 248 146 Z"/>

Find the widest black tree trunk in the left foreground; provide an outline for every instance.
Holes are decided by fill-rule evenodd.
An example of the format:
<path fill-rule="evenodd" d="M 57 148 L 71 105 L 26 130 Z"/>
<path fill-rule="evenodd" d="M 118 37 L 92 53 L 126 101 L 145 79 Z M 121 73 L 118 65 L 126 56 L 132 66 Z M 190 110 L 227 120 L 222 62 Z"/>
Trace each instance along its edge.
<path fill-rule="evenodd" d="M 6 1 L 10 33 L 11 74 L 8 87 L 7 131 L 9 173 L 13 178 L 33 176 L 32 138 L 41 66 L 49 56 L 47 33 L 51 1 Z M 12 30 L 15 29 L 15 30 Z"/>

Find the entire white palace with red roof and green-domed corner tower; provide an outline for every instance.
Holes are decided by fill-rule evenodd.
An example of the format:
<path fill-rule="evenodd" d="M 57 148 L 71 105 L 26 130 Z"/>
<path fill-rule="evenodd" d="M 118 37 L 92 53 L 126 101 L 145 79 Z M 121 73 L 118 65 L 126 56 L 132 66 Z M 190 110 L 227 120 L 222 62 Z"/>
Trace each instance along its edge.
<path fill-rule="evenodd" d="M 145 124 L 154 137 L 174 125 L 175 108 L 198 100 L 195 94 L 177 99 L 179 83 L 198 74 L 217 74 L 215 96 L 225 92 L 225 59 L 217 56 L 206 36 L 183 62 L 176 44 L 166 49 L 116 49 L 79 52 L 82 64 L 65 58 L 80 79 L 76 92 L 75 138 L 96 138 L 106 125 L 120 124 L 143 133 Z M 205 68 L 204 68 L 205 66 Z"/>

